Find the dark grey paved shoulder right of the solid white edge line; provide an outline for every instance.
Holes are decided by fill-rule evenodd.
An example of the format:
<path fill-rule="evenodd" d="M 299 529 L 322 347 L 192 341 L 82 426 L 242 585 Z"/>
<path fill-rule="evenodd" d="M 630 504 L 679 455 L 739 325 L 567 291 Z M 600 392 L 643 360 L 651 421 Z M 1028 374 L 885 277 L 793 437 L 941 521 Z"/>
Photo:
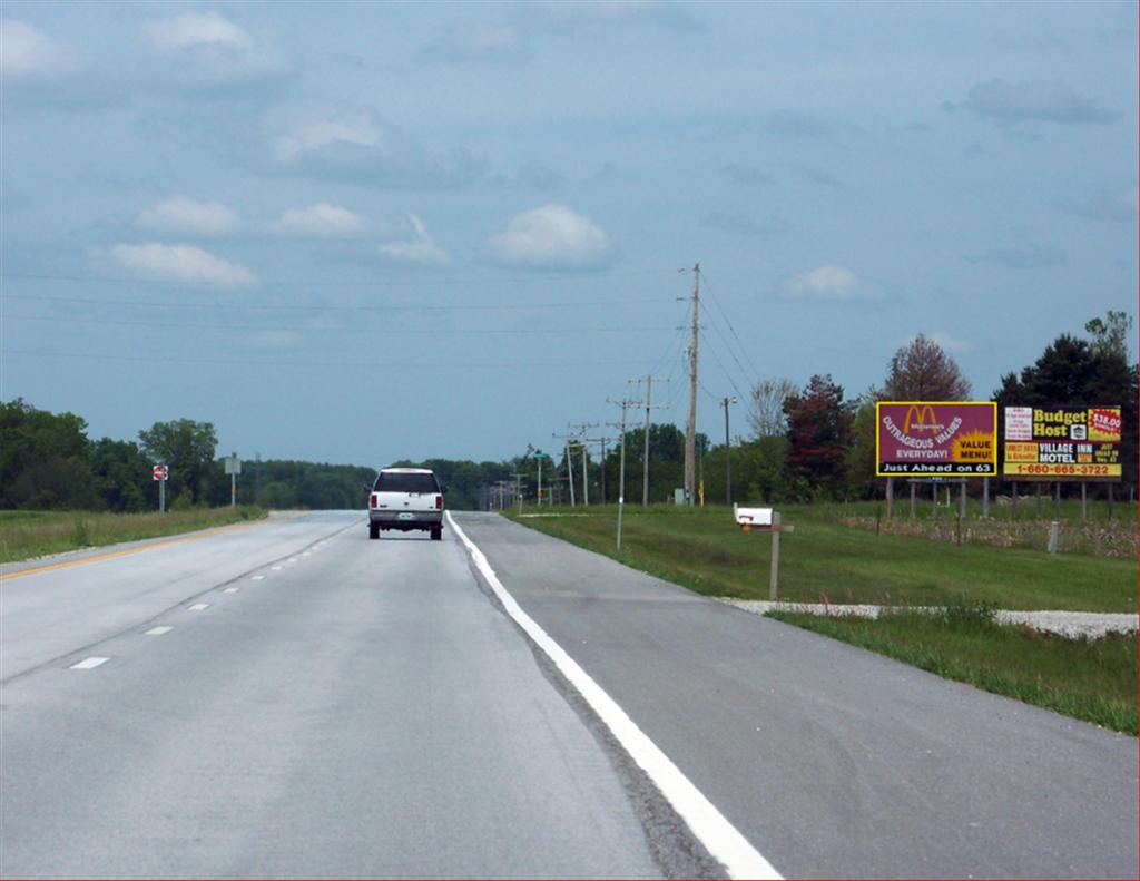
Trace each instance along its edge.
<path fill-rule="evenodd" d="M 523 611 L 785 876 L 1135 878 L 1135 738 L 497 516 L 457 519 Z"/>

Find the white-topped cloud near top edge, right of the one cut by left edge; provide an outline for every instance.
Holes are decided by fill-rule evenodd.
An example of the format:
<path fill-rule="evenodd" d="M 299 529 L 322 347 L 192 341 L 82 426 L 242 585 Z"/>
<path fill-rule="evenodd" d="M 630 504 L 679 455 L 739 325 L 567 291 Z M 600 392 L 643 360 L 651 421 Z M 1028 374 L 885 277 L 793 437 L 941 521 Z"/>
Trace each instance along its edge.
<path fill-rule="evenodd" d="M 288 73 L 277 49 L 215 11 L 182 13 L 142 30 L 154 51 L 171 62 L 162 78 L 186 91 L 241 92 L 276 84 Z"/>

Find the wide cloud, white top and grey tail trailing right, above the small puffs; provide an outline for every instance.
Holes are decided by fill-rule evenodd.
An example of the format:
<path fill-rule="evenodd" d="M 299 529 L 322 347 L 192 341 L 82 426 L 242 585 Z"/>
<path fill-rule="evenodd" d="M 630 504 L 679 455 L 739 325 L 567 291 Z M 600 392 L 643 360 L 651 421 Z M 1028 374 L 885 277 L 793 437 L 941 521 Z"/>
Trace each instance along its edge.
<path fill-rule="evenodd" d="M 484 175 L 466 151 L 432 153 L 367 108 L 286 107 L 270 128 L 274 161 L 293 173 L 394 189 L 456 189 Z"/>

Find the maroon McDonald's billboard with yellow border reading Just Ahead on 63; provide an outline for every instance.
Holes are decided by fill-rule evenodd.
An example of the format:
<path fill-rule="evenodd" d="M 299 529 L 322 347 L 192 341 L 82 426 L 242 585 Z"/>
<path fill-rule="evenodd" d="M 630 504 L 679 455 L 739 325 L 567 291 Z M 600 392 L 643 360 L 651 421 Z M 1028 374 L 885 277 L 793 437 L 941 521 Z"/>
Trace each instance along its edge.
<path fill-rule="evenodd" d="M 874 411 L 880 477 L 997 474 L 993 401 L 880 401 Z"/>

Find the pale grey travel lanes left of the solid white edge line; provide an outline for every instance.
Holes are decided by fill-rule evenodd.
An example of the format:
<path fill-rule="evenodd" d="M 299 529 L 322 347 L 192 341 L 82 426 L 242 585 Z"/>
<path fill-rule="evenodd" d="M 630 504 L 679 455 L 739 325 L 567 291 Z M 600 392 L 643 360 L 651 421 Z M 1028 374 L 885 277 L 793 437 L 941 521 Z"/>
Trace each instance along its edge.
<path fill-rule="evenodd" d="M 715 870 L 447 531 L 314 514 L 0 590 L 0 876 Z"/>

